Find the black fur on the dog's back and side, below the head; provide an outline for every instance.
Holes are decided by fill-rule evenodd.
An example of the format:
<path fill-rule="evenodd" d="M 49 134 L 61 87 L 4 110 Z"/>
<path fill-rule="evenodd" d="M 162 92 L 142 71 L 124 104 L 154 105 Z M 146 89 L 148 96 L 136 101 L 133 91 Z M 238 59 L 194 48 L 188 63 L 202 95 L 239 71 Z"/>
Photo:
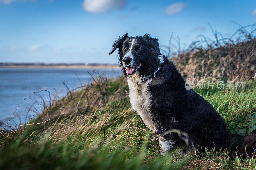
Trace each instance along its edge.
<path fill-rule="evenodd" d="M 165 77 L 165 82 L 149 87 L 153 94 L 151 113 L 158 132 L 169 129 L 186 132 L 199 151 L 205 147 L 226 148 L 229 134 L 223 118 L 193 89 L 186 90 L 184 79 L 165 57 L 156 78 L 160 75 Z M 163 127 L 159 128 L 159 123 Z M 174 146 L 183 144 L 175 133 L 166 135 L 165 139 L 174 141 Z"/>

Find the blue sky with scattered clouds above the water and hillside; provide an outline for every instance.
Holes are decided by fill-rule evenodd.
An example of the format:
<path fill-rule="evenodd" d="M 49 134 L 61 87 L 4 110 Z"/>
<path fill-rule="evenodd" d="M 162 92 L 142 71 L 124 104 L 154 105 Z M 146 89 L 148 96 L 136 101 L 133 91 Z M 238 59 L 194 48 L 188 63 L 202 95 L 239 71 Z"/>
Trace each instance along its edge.
<path fill-rule="evenodd" d="M 256 21 L 256 1 L 0 0 L 0 62 L 117 63 L 113 41 L 149 33 L 168 44 L 212 27 L 229 37 Z"/>

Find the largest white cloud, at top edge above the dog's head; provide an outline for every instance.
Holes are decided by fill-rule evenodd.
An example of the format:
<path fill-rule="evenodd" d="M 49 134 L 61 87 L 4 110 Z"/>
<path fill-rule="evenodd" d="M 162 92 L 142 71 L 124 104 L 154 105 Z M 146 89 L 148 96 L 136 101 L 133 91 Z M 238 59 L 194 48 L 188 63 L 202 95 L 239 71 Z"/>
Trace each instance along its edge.
<path fill-rule="evenodd" d="M 85 11 L 92 13 L 107 12 L 114 8 L 123 8 L 126 0 L 84 0 L 82 6 Z"/>

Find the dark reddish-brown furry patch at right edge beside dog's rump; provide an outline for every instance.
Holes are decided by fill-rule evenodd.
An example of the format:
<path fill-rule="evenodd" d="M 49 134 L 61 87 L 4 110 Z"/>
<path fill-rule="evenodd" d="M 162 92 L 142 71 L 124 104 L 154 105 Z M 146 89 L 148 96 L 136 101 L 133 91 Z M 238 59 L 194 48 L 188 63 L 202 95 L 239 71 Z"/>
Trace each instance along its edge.
<path fill-rule="evenodd" d="M 244 138 L 244 142 L 239 151 L 236 153 L 238 157 L 252 157 L 256 154 L 256 135 L 251 134 Z"/>

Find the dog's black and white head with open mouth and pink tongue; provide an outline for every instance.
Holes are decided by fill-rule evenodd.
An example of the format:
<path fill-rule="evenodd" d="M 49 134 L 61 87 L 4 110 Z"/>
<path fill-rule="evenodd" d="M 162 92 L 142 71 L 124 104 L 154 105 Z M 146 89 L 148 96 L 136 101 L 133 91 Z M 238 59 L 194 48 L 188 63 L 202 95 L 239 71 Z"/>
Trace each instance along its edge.
<path fill-rule="evenodd" d="M 159 68 L 163 57 L 157 40 L 149 34 L 143 37 L 129 37 L 126 33 L 114 41 L 109 54 L 118 48 L 119 66 L 122 67 L 125 76 L 139 71 L 139 76 L 150 77 Z"/>

